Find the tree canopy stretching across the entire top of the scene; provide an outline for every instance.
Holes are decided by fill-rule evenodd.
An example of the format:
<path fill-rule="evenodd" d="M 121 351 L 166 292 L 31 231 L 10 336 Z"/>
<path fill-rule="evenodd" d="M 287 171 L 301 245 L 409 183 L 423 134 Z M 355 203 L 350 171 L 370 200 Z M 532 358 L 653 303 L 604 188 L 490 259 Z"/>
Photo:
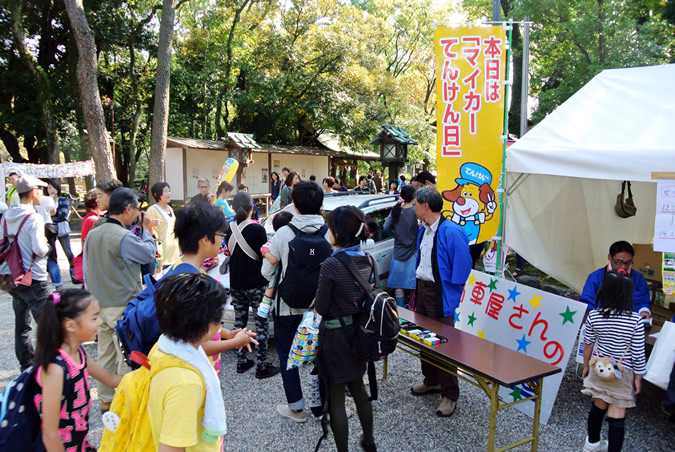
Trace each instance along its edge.
<path fill-rule="evenodd" d="M 17 10 L 18 1 L 0 3 L 5 155 L 88 158 L 77 46 L 64 4 L 24 0 Z M 393 124 L 419 142 L 411 158 L 427 162 L 435 156 L 434 24 L 492 14 L 489 0 L 84 0 L 105 126 L 125 183 L 148 164 L 163 3 L 176 7 L 169 135 L 218 139 L 230 131 L 311 145 L 332 131 L 362 150 L 372 149 L 381 124 Z M 675 61 L 675 0 L 501 4 L 503 17 L 533 22 L 535 123 L 605 68 Z M 516 59 L 519 39 L 514 34 Z"/>

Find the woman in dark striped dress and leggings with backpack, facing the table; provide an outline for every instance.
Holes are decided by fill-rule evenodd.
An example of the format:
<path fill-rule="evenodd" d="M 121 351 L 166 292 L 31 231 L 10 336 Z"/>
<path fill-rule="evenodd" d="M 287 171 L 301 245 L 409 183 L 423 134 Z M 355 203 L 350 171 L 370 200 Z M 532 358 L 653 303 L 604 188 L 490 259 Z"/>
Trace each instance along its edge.
<path fill-rule="evenodd" d="M 319 372 L 328 381 L 330 426 L 339 452 L 349 449 L 349 426 L 345 409 L 345 385 L 354 398 L 361 421 L 361 448 L 376 451 L 373 437 L 373 407 L 363 384 L 366 361 L 352 353 L 351 341 L 359 325 L 359 312 L 365 293 L 336 255 L 345 253 L 367 280 L 373 274 L 373 260 L 361 249 L 368 238 L 363 212 L 354 206 L 342 206 L 328 216 L 331 257 L 321 264 L 319 287 L 314 307 L 323 316 L 319 341 Z M 342 315 L 342 328 L 338 316 Z"/>

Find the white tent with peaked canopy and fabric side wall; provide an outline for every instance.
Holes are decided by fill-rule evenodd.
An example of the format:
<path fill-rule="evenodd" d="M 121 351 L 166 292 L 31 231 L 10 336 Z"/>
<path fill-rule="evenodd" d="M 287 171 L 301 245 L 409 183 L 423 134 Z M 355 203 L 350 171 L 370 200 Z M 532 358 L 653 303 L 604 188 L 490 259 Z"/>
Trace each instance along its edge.
<path fill-rule="evenodd" d="M 603 71 L 507 150 L 506 171 L 506 244 L 580 291 L 612 242 L 653 242 L 651 173 L 675 171 L 675 64 Z"/>

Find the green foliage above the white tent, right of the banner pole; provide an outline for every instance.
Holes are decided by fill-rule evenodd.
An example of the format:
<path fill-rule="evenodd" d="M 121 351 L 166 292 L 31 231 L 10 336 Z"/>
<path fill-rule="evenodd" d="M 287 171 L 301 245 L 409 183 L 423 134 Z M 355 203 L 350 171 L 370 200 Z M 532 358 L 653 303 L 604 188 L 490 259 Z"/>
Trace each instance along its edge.
<path fill-rule="evenodd" d="M 663 2 L 640 0 L 521 0 L 516 17 L 531 31 L 532 119 L 543 119 L 603 69 L 664 64 L 673 58 L 673 27 Z M 652 11 L 652 14 L 650 14 Z"/>

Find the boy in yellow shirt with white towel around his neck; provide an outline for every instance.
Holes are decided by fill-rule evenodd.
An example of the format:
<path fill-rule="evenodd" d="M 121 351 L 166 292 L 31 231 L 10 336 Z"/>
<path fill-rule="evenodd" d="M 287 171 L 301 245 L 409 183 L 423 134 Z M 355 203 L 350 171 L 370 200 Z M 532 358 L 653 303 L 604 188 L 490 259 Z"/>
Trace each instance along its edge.
<path fill-rule="evenodd" d="M 147 412 L 160 452 L 222 450 L 227 425 L 220 380 L 202 343 L 219 331 L 224 299 L 223 286 L 200 273 L 170 276 L 155 292 L 162 335 L 150 365 L 171 354 L 194 367 L 169 367 L 152 378 Z"/>

